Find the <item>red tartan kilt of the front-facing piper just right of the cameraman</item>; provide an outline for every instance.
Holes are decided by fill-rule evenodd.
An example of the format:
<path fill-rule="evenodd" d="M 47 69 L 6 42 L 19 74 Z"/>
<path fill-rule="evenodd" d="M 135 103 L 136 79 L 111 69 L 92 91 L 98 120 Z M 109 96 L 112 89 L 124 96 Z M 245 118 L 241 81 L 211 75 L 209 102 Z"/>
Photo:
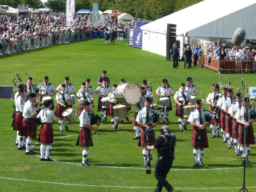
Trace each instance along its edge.
<path fill-rule="evenodd" d="M 201 140 L 198 140 L 198 135 L 201 135 Z M 198 129 L 197 127 L 193 127 L 192 129 L 192 147 L 193 148 L 209 148 L 207 131 L 205 129 Z"/>

